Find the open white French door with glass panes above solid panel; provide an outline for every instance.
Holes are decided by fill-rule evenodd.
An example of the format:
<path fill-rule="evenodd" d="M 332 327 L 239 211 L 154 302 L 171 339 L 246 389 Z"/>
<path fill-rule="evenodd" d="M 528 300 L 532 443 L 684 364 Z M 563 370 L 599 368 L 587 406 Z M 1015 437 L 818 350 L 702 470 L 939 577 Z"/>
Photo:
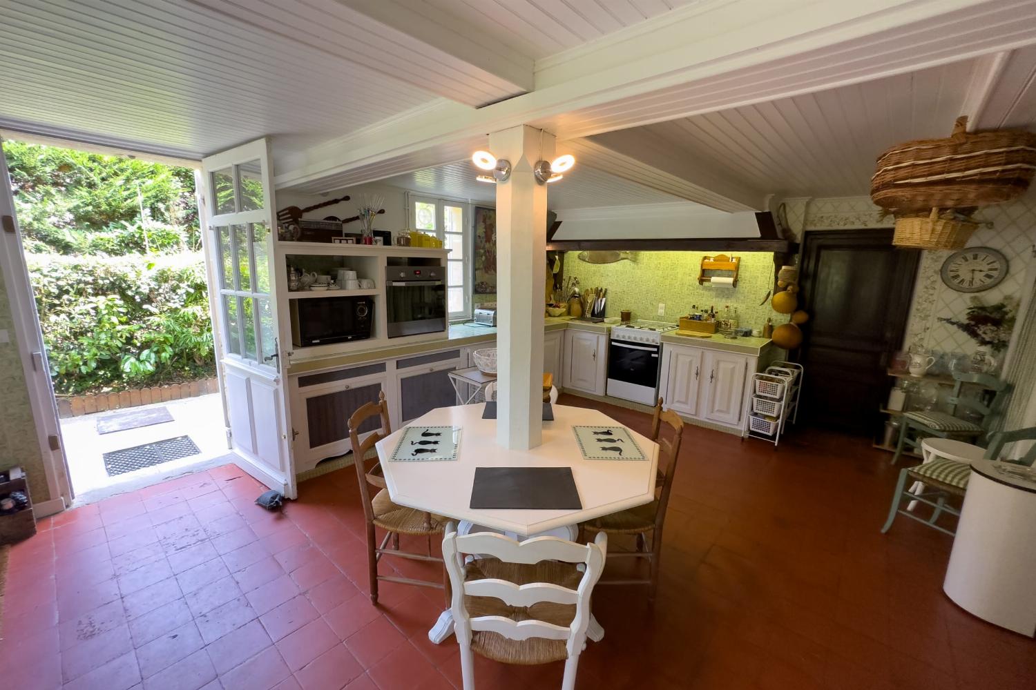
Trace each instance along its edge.
<path fill-rule="evenodd" d="M 278 338 L 274 267 L 277 211 L 269 142 L 261 139 L 202 158 L 205 238 L 215 270 L 224 400 L 232 448 L 242 469 L 270 488 L 295 498 L 288 438 L 288 401 Z"/>

